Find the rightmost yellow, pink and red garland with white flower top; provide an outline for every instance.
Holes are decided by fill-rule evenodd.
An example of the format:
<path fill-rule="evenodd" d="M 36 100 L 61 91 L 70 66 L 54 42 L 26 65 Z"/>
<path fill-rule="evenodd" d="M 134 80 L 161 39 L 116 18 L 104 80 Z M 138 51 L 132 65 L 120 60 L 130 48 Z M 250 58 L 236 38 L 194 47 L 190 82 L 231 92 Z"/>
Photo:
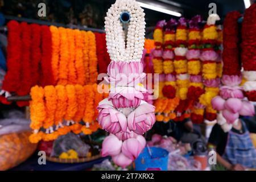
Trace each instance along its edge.
<path fill-rule="evenodd" d="M 218 85 L 220 85 L 220 78 L 217 77 L 217 59 L 219 57 L 216 50 L 216 42 L 218 39 L 216 20 L 220 20 L 217 14 L 209 15 L 207 24 L 203 30 L 203 52 L 200 60 L 203 63 L 202 76 L 205 86 L 205 93 L 199 98 L 200 104 L 206 107 L 205 118 L 209 121 L 216 119 L 217 111 L 213 109 L 211 101 L 213 97 L 218 95 Z"/>

